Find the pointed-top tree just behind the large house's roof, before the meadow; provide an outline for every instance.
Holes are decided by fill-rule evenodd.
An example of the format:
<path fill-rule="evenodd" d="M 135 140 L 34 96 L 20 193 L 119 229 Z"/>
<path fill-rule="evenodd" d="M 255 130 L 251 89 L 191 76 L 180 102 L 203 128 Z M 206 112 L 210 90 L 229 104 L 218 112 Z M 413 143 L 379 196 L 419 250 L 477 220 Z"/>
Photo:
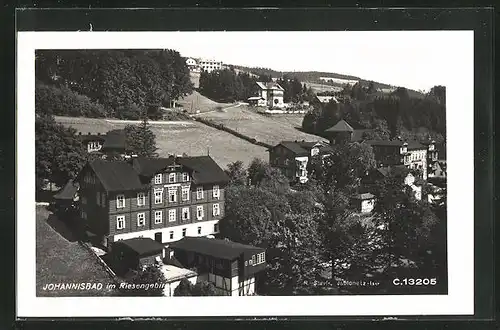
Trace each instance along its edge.
<path fill-rule="evenodd" d="M 126 144 L 132 152 L 143 157 L 158 157 L 156 136 L 151 130 L 147 117 L 140 125 L 125 126 Z"/>

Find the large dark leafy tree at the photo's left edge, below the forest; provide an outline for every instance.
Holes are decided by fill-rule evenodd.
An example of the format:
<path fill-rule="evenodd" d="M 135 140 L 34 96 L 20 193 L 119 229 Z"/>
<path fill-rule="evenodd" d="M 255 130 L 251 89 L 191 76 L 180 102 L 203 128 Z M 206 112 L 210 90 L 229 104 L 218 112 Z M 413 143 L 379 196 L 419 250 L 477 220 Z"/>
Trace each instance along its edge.
<path fill-rule="evenodd" d="M 42 189 L 45 182 L 62 187 L 83 168 L 87 153 L 75 133 L 75 129 L 57 124 L 51 116 L 36 116 L 37 190 Z"/>

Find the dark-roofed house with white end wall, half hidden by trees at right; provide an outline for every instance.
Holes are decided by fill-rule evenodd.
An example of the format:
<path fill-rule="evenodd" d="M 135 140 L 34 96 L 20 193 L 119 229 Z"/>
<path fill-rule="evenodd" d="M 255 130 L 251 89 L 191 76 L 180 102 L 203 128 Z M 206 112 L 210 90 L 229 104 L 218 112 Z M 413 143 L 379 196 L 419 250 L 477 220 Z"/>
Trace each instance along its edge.
<path fill-rule="evenodd" d="M 384 166 L 369 171 L 368 174 L 361 179 L 362 190 L 364 192 L 371 192 L 375 184 L 388 176 L 399 178 L 402 183 L 413 190 L 416 199 L 422 199 L 423 182 L 416 178 L 405 165 Z"/>

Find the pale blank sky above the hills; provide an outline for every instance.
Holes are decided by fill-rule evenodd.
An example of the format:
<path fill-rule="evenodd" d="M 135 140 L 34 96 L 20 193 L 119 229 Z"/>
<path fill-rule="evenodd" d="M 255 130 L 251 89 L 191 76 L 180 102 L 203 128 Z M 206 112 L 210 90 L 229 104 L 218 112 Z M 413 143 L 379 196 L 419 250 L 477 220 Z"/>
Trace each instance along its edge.
<path fill-rule="evenodd" d="M 324 71 L 428 91 L 460 51 L 452 31 L 168 32 L 182 56 L 277 71 Z"/>

